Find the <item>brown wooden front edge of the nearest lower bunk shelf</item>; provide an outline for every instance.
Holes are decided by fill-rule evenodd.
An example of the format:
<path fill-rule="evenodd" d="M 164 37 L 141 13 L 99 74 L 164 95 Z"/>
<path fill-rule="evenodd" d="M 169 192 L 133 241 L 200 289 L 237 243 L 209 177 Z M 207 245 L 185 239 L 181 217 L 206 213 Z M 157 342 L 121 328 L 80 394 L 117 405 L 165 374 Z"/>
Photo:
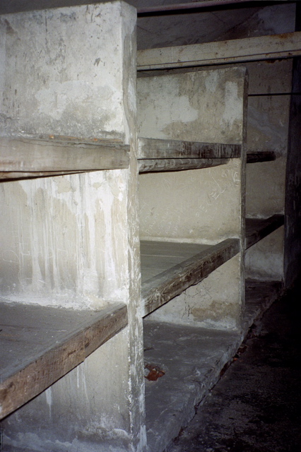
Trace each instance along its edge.
<path fill-rule="evenodd" d="M 27 367 L 1 382 L 0 420 L 81 364 L 90 353 L 122 331 L 127 323 L 125 304 L 108 307 L 100 313 L 98 321 L 74 331 L 64 344 L 54 345 Z"/>

